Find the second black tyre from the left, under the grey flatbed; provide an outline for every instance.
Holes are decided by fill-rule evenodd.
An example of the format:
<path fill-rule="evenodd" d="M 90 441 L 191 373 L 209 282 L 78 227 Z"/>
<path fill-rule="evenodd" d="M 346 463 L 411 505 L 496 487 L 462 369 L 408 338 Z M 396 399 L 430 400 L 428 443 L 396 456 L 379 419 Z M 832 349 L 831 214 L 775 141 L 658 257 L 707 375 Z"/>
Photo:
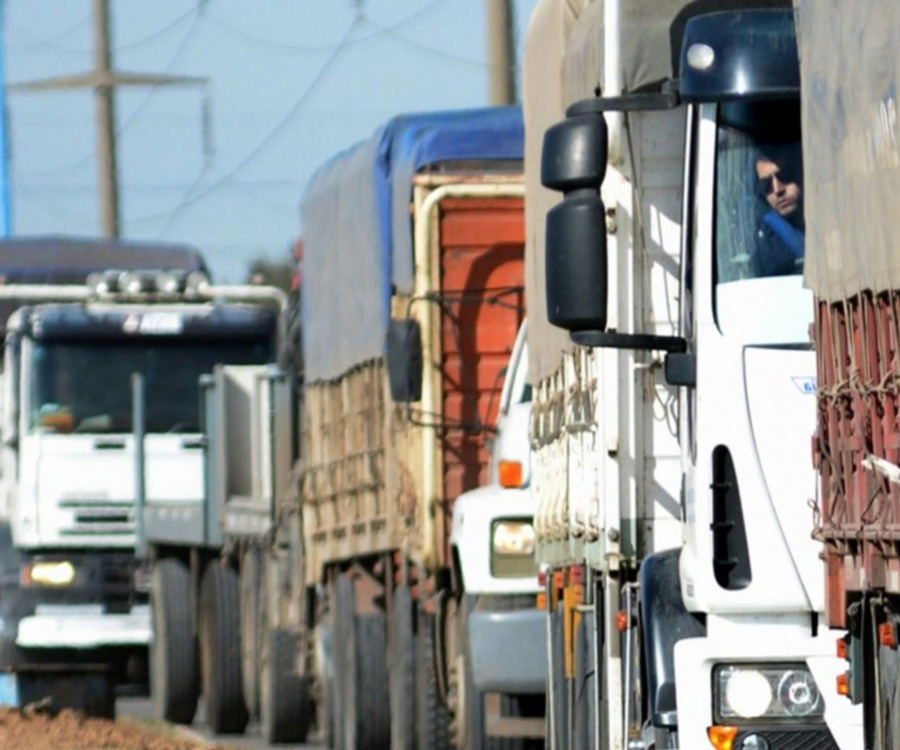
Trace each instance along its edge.
<path fill-rule="evenodd" d="M 215 734 L 240 734 L 249 719 L 241 679 L 240 585 L 237 573 L 217 562 L 203 574 L 200 645 L 207 724 Z"/>

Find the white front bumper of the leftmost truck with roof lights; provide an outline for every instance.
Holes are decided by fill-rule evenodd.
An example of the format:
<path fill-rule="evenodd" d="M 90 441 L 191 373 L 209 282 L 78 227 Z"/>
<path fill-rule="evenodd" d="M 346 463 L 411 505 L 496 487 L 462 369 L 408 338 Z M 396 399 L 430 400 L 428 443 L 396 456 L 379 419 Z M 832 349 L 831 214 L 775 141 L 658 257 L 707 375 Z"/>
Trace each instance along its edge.
<path fill-rule="evenodd" d="M 22 648 L 94 649 L 150 643 L 150 607 L 107 614 L 99 605 L 43 604 L 22 618 L 16 645 Z"/>

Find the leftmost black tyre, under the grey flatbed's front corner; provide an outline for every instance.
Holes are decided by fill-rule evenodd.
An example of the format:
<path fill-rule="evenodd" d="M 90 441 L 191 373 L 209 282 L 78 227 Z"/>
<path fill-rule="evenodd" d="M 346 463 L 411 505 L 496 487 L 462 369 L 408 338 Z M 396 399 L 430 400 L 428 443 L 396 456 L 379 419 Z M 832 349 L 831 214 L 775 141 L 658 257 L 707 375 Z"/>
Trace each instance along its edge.
<path fill-rule="evenodd" d="M 191 622 L 191 574 L 175 558 L 153 566 L 150 585 L 150 693 L 157 719 L 190 724 L 200 697 L 197 641 Z"/>

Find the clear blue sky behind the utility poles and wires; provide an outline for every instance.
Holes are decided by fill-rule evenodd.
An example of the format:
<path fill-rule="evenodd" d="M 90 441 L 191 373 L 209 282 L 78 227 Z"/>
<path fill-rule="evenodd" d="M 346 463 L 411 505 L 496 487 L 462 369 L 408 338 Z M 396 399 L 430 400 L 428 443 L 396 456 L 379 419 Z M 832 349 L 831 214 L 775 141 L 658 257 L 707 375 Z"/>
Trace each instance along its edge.
<path fill-rule="evenodd" d="M 90 0 L 0 2 L 8 82 L 91 67 Z M 535 4 L 516 0 L 520 59 Z M 122 235 L 194 244 L 220 282 L 288 252 L 306 182 L 334 153 L 400 112 L 487 104 L 484 0 L 110 0 L 110 10 L 117 69 L 209 79 L 120 89 Z M 92 94 L 7 102 L 14 233 L 96 235 Z"/>

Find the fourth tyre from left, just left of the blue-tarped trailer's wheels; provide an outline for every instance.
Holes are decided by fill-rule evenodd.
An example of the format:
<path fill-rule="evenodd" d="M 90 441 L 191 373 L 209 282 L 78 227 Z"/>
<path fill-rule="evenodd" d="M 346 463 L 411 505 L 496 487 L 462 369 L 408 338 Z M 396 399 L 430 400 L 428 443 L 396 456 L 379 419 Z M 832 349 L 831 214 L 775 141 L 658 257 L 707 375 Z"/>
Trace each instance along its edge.
<path fill-rule="evenodd" d="M 304 742 L 312 701 L 309 680 L 297 674 L 297 636 L 272 628 L 262 639 L 259 723 L 267 743 Z"/>

